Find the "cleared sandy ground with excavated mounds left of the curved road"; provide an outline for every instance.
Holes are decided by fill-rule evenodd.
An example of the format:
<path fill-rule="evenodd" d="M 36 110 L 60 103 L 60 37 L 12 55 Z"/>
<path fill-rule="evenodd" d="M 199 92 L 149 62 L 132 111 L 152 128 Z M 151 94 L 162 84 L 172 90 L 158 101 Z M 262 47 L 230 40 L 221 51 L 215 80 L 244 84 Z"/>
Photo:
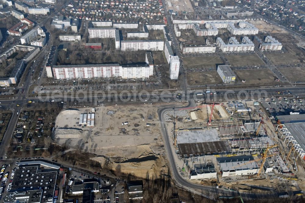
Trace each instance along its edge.
<path fill-rule="evenodd" d="M 105 158 L 110 158 L 113 169 L 118 164 L 121 171 L 134 173 L 136 176 L 167 173 L 164 168 L 164 147 L 160 134 L 160 123 L 157 109 L 152 105 L 99 107 L 95 112 L 95 126 L 81 127 L 80 113 L 90 112 L 91 108 L 64 110 L 56 118 L 54 137 L 59 144 L 72 138 L 71 146 L 79 139 L 86 141 L 86 135 L 91 128 L 88 138 L 88 151 L 94 149 L 94 158 L 103 165 Z M 122 125 L 128 122 L 127 125 Z M 146 126 L 150 123 L 150 126 Z"/>

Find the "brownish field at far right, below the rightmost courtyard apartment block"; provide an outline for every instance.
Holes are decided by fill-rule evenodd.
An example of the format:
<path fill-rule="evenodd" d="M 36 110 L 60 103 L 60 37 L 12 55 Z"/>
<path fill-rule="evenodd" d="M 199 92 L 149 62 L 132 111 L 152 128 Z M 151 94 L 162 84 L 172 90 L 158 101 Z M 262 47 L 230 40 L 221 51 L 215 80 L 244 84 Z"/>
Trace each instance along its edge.
<path fill-rule="evenodd" d="M 274 65 L 288 65 L 300 63 L 300 59 L 298 59 L 296 55 L 293 55 L 291 53 L 265 54 L 265 56 L 270 59 Z"/>

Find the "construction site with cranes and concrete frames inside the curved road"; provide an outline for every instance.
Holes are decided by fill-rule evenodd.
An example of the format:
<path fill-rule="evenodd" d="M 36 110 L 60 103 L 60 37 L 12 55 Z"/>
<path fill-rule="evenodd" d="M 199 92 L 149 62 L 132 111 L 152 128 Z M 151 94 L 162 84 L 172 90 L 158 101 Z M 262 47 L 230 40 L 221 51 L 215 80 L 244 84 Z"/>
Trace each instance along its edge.
<path fill-rule="evenodd" d="M 243 192 L 305 189 L 304 151 L 286 126 L 278 136 L 259 102 L 198 103 L 168 111 L 165 120 L 178 169 L 193 183 Z"/>

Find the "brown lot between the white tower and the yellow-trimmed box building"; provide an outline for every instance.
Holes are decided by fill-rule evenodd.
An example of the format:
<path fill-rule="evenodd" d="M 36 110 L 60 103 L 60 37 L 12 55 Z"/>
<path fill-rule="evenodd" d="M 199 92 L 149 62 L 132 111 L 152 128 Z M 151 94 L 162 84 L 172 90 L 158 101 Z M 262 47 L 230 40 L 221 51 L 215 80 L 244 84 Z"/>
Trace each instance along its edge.
<path fill-rule="evenodd" d="M 222 80 L 216 71 L 188 72 L 189 85 L 221 84 Z"/>

